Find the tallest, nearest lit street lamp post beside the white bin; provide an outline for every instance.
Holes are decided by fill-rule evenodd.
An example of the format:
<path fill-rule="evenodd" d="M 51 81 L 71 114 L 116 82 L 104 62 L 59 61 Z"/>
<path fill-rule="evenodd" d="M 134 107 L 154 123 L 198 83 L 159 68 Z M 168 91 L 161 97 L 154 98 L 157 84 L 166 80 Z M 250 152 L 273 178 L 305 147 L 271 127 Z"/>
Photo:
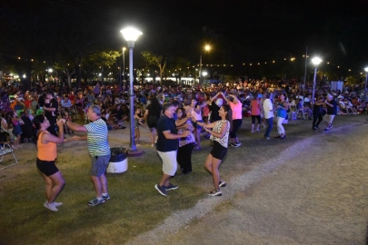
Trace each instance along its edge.
<path fill-rule="evenodd" d="M 130 149 L 132 152 L 136 152 L 135 142 L 134 142 L 134 90 L 133 90 L 133 48 L 134 42 L 142 33 L 132 27 L 125 28 L 120 31 L 129 48 L 129 84 L 130 84 Z M 124 53 L 124 48 L 123 48 Z M 123 54 L 124 57 L 124 54 Z"/>

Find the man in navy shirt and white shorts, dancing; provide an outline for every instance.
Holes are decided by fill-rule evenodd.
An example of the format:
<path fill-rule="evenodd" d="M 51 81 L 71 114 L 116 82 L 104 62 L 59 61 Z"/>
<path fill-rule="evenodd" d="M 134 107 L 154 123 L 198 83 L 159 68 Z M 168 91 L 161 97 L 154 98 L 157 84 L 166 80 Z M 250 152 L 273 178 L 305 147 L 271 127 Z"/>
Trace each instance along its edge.
<path fill-rule="evenodd" d="M 167 196 L 166 191 L 178 188 L 170 182 L 170 178 L 175 175 L 177 169 L 176 151 L 178 139 L 189 136 L 191 132 L 185 131 L 177 134 L 174 115 L 174 106 L 171 103 L 164 103 L 163 115 L 157 122 L 157 152 L 163 161 L 163 177 L 161 181 L 154 185 L 154 188 L 163 196 Z"/>

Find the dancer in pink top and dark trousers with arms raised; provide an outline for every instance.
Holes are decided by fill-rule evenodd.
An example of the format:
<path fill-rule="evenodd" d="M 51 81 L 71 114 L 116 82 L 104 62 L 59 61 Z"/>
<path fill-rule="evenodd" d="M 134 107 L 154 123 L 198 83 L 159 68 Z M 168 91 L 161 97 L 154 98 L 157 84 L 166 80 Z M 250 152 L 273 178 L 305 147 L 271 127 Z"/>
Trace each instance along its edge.
<path fill-rule="evenodd" d="M 232 114 L 233 114 L 233 126 L 232 126 L 232 131 L 230 132 L 230 138 L 232 139 L 232 142 L 230 143 L 230 146 L 239 147 L 241 146 L 242 143 L 239 142 L 239 139 L 236 133 L 238 132 L 239 128 L 242 126 L 242 123 L 243 123 L 243 115 L 242 115 L 243 105 L 240 102 L 240 100 L 236 97 L 236 95 L 234 95 L 233 93 L 229 93 L 228 99 L 226 98 L 226 96 L 224 96 L 224 93 L 222 94 L 227 104 L 229 104 L 230 108 L 232 108 Z"/>

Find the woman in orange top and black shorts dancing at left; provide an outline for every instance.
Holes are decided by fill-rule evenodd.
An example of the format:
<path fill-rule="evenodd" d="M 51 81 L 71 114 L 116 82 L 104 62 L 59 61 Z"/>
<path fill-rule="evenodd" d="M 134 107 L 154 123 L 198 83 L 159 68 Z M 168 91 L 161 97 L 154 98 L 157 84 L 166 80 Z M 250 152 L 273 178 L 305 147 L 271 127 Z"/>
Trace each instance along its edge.
<path fill-rule="evenodd" d="M 63 122 L 59 120 L 56 121 L 59 128 L 58 137 L 46 131 L 50 126 L 50 122 L 48 122 L 43 114 L 35 116 L 33 122 L 35 124 L 35 129 L 38 131 L 36 165 L 45 179 L 46 201 L 44 206 L 50 211 L 57 211 L 57 207 L 61 206 L 63 203 L 55 202 L 55 199 L 65 185 L 63 175 L 55 166 L 57 157 L 56 143 L 64 142 Z"/>

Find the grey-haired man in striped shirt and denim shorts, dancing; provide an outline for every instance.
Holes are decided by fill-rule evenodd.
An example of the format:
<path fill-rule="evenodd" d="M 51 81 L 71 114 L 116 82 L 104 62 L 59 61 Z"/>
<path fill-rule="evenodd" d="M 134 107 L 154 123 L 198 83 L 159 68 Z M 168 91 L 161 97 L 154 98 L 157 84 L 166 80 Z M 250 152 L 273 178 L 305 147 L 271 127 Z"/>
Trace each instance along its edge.
<path fill-rule="evenodd" d="M 71 130 L 87 132 L 87 135 L 80 137 L 86 139 L 88 143 L 88 152 L 91 155 L 91 180 L 94 183 L 95 198 L 88 201 L 88 205 L 94 206 L 109 200 L 107 192 L 107 179 L 104 172 L 110 161 L 110 146 L 107 141 L 107 125 L 101 119 L 101 111 L 98 105 L 91 105 L 88 108 L 87 116 L 92 122 L 79 125 L 74 122 L 61 119 Z"/>

